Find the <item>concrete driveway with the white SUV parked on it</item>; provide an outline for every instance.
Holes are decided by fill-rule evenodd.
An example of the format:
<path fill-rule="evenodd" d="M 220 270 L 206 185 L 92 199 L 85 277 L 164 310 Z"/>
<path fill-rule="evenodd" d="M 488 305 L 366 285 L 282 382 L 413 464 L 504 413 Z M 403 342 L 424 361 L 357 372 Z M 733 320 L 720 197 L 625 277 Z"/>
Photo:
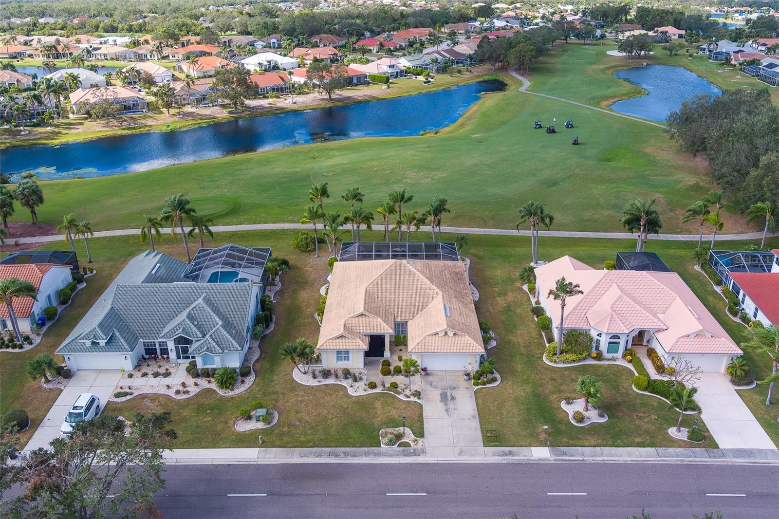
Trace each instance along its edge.
<path fill-rule="evenodd" d="M 114 392 L 122 372 L 117 369 L 79 369 L 73 373 L 68 385 L 62 390 L 57 401 L 49 409 L 48 414 L 38 425 L 33 437 L 27 443 L 24 450 L 34 450 L 38 447 L 48 447 L 49 442 L 60 436 L 59 428 L 65 420 L 73 402 L 82 393 L 92 393 L 100 398 L 100 412 L 108 403 L 108 397 Z"/>

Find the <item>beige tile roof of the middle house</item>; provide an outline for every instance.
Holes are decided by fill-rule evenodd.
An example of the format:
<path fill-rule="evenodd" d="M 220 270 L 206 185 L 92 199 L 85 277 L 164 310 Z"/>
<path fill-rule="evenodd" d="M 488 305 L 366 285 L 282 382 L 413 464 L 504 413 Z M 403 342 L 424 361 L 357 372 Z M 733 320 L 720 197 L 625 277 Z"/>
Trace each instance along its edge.
<path fill-rule="evenodd" d="M 366 334 L 393 334 L 396 320 L 411 353 L 484 352 L 465 267 L 424 260 L 336 263 L 317 348 L 365 350 Z"/>

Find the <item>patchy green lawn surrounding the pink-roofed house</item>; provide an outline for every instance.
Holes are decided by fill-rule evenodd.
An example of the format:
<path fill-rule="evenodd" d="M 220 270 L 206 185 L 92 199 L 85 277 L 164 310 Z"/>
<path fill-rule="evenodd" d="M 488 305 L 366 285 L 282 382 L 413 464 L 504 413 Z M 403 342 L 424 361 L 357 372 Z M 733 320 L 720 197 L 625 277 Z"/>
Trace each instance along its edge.
<path fill-rule="evenodd" d="M 516 276 L 520 264 L 530 260 L 527 238 L 469 237 L 466 255 L 470 256 L 472 272 L 480 292 L 478 312 L 481 319 L 492 323 L 499 336 L 498 347 L 490 355 L 496 359 L 496 369 L 502 383 L 495 389 L 480 390 L 476 400 L 485 445 L 545 445 L 552 446 L 663 446 L 689 447 L 691 444 L 673 440 L 666 430 L 675 425 L 678 414 L 668 404 L 655 397 L 635 393 L 630 385 L 633 372 L 617 365 L 583 365 L 573 368 L 553 368 L 542 361 L 543 339 L 530 314 L 530 301 L 521 291 Z M 721 242 L 721 248 L 741 249 L 743 242 Z M 594 267 L 613 260 L 618 250 L 631 250 L 633 243 L 620 240 L 542 238 L 541 259 L 552 260 L 569 254 Z M 746 339 L 745 327 L 724 315 L 724 301 L 702 274 L 693 269 L 689 260 L 690 245 L 679 242 L 650 242 L 647 249 L 661 258 L 696 292 L 737 343 Z M 746 354 L 760 379 L 767 375 L 767 358 Z M 568 420 L 560 401 L 576 398 L 576 379 L 591 374 L 605 382 L 602 407 L 609 415 L 604 424 L 579 428 Z M 777 405 L 764 404 L 767 387 L 738 392 L 774 442 L 779 442 Z M 705 412 L 700 425 L 704 433 Z M 685 418 L 685 426 L 693 418 Z M 547 425 L 548 429 L 544 429 Z M 487 437 L 495 430 L 497 438 Z M 714 447 L 710 438 L 703 447 Z"/>

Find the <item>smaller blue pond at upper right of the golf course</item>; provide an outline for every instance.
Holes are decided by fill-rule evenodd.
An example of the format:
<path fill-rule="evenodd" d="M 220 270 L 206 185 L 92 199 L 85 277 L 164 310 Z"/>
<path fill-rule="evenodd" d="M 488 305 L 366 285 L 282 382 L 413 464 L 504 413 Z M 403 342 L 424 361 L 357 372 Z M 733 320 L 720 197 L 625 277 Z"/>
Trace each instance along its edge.
<path fill-rule="evenodd" d="M 671 111 L 679 110 L 690 97 L 722 94 L 722 90 L 707 79 L 679 66 L 639 66 L 618 70 L 614 76 L 638 85 L 647 90 L 647 94 L 617 101 L 610 108 L 653 121 L 664 121 Z"/>

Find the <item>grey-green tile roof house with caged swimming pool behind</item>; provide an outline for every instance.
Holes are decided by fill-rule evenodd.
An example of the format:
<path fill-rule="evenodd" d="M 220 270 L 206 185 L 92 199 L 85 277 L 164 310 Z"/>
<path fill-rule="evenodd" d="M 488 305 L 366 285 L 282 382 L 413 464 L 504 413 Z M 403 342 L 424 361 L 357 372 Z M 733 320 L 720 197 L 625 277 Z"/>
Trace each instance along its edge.
<path fill-rule="evenodd" d="M 270 249 L 200 249 L 189 265 L 161 252 L 143 252 L 122 269 L 56 353 L 74 371 L 129 370 L 142 356 L 155 355 L 174 362 L 194 359 L 198 367 L 240 366 L 264 289 L 264 263 L 244 267 L 225 258 L 253 254 L 267 258 Z"/>

